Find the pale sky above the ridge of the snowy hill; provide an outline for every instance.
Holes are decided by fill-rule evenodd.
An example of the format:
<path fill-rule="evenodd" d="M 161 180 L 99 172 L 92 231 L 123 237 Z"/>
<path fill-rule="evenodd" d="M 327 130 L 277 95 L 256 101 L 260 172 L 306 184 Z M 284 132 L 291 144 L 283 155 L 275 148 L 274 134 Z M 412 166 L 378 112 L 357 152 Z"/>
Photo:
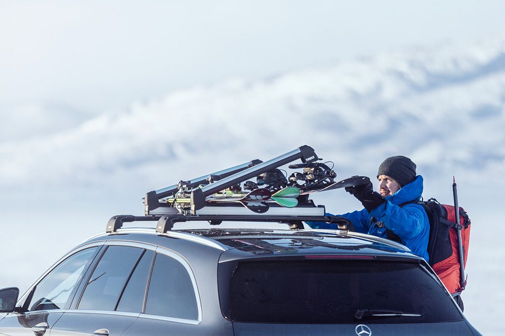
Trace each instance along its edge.
<path fill-rule="evenodd" d="M 0 113 L 88 117 L 227 78 L 500 34 L 502 13 L 502 1 L 3 0 Z"/>

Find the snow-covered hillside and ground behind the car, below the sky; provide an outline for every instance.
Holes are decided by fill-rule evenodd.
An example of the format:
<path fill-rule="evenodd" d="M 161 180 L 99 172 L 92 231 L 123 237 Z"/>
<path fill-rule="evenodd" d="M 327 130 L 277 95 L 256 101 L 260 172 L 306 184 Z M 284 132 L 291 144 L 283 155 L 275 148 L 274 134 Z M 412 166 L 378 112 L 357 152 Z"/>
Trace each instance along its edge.
<path fill-rule="evenodd" d="M 505 187 L 505 39 L 444 43 L 259 81 L 230 79 L 128 109 L 71 118 L 49 106 L 2 125 L 0 204 L 9 270 L 0 287 L 26 290 L 39 274 L 116 214 L 142 214 L 149 190 L 310 145 L 337 178 L 373 177 L 405 155 L 425 198 L 472 219 L 465 315 L 483 334 L 505 327 L 501 195 Z M 51 110 L 48 120 L 40 111 Z M 71 113 L 72 111 L 68 111 Z M 51 122 L 49 122 L 49 120 Z M 23 122 L 30 137 L 16 136 Z M 50 127 L 46 127 L 49 125 Z M 42 131 L 43 130 L 43 131 Z M 332 213 L 358 207 L 333 190 Z M 22 260 L 22 263 L 13 260 Z M 488 321 L 492 321 L 489 323 Z"/>

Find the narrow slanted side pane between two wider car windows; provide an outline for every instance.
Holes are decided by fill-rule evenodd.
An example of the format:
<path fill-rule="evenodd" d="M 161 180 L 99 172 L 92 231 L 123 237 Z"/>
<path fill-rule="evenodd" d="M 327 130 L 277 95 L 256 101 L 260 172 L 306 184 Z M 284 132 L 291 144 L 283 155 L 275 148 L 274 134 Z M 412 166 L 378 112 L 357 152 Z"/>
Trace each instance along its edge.
<path fill-rule="evenodd" d="M 147 290 L 147 279 L 153 264 L 154 252 L 146 250 L 138 262 L 128 284 L 121 295 L 119 311 L 141 313 L 144 307 L 144 297 Z"/>

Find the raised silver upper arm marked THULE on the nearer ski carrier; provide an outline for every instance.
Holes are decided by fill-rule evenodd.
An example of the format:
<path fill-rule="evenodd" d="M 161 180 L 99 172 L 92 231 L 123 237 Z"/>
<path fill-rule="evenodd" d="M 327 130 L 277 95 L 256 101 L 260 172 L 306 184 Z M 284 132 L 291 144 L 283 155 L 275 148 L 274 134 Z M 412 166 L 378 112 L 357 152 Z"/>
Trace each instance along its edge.
<path fill-rule="evenodd" d="M 303 163 L 315 162 L 319 160 L 314 149 L 310 146 L 304 145 L 298 147 L 294 151 L 288 152 L 269 161 L 262 162 L 247 169 L 241 170 L 217 182 L 208 184 L 198 189 L 194 189 L 190 195 L 191 214 L 195 215 L 197 210 L 202 209 L 207 205 L 207 201 L 205 200 L 207 196 L 229 188 L 237 183 L 244 182 L 252 177 L 256 177 L 272 169 L 293 162 L 297 159 L 301 159 L 301 162 Z"/>

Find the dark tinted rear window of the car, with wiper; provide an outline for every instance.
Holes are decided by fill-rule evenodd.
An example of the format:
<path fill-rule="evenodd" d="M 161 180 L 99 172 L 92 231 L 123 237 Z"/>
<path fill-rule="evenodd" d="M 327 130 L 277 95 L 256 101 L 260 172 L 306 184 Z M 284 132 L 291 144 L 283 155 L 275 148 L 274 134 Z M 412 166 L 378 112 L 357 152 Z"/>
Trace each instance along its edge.
<path fill-rule="evenodd" d="M 419 323 L 463 319 L 450 296 L 417 263 L 299 259 L 239 261 L 229 268 L 231 278 L 229 286 L 225 285 L 229 297 L 224 296 L 229 307 L 223 312 L 228 311 L 234 321 Z"/>

